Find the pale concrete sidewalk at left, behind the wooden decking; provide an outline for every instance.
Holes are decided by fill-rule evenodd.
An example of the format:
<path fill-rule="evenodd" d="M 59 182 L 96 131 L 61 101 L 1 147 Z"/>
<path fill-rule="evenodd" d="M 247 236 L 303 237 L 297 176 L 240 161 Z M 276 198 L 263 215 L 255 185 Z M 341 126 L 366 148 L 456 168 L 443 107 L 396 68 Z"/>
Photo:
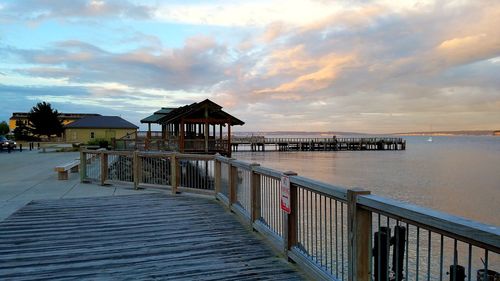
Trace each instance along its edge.
<path fill-rule="evenodd" d="M 131 185 L 98 186 L 82 184 L 77 173 L 69 180 L 57 180 L 54 167 L 80 157 L 77 152 L 19 150 L 0 153 L 0 221 L 36 199 L 82 198 L 141 193 L 158 190 L 134 190 Z"/>

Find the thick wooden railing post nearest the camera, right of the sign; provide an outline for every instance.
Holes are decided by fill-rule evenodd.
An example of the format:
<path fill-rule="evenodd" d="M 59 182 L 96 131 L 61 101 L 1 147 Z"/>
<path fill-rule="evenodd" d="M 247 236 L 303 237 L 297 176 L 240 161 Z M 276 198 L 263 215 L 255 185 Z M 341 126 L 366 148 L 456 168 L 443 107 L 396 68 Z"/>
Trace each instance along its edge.
<path fill-rule="evenodd" d="M 347 190 L 348 280 L 369 281 L 371 257 L 372 213 L 357 206 L 359 195 L 370 194 L 361 189 Z"/>

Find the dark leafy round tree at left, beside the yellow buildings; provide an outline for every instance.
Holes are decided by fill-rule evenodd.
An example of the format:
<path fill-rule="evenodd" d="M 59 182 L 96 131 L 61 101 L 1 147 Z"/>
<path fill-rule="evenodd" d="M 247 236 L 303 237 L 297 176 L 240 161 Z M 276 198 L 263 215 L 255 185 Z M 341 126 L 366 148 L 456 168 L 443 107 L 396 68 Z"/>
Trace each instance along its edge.
<path fill-rule="evenodd" d="M 61 136 L 64 131 L 59 113 L 52 109 L 50 103 L 39 102 L 28 113 L 31 133 L 36 136 Z"/>

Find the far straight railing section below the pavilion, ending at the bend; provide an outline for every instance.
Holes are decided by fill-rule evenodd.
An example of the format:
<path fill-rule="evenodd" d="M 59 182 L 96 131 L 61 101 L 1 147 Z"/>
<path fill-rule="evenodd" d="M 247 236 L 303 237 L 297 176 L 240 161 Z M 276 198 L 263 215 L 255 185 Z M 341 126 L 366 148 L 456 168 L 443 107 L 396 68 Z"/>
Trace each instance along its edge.
<path fill-rule="evenodd" d="M 135 188 L 157 187 L 214 194 L 214 156 L 176 152 L 82 149 L 81 181 L 101 185 L 131 183 Z"/>

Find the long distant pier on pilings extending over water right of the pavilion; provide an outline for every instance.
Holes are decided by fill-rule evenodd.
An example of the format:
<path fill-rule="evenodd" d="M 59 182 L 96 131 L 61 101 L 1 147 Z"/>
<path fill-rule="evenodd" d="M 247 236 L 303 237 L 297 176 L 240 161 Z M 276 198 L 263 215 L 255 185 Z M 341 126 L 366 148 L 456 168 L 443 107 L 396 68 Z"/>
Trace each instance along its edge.
<path fill-rule="evenodd" d="M 405 150 L 402 138 L 266 138 L 234 137 L 232 151 Z"/>

